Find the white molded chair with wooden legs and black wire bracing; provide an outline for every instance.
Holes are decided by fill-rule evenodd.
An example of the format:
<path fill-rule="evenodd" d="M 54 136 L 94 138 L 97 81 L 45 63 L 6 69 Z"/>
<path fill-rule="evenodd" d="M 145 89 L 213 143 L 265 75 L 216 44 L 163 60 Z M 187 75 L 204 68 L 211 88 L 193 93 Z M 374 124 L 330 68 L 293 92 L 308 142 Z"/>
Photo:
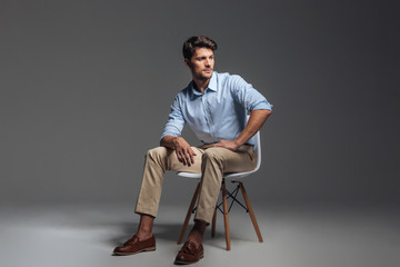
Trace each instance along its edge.
<path fill-rule="evenodd" d="M 222 178 L 222 186 L 221 186 L 222 202 L 217 205 L 217 207 L 216 207 L 216 211 L 214 211 L 214 215 L 213 215 L 213 218 L 212 218 L 211 236 L 213 237 L 216 235 L 217 209 L 219 209 L 223 214 L 227 250 L 230 250 L 229 215 L 228 214 L 229 214 L 233 202 L 238 202 L 239 205 L 241 205 L 246 209 L 246 211 L 249 212 L 251 221 L 252 221 L 253 227 L 254 227 L 254 230 L 257 233 L 258 239 L 259 239 L 260 243 L 262 243 L 262 236 L 261 236 L 260 229 L 258 227 L 253 209 L 252 209 L 252 207 L 250 205 L 249 197 L 248 197 L 248 195 L 247 195 L 247 192 L 244 190 L 243 184 L 239 180 L 239 179 L 241 179 L 243 177 L 247 177 L 247 176 L 256 172 L 261 166 L 260 132 L 256 134 L 254 151 L 256 151 L 256 155 L 257 155 L 257 166 L 256 166 L 256 168 L 253 170 L 244 171 L 244 172 L 224 174 L 223 178 Z M 191 174 L 191 172 L 184 172 L 184 171 L 179 171 L 178 176 L 192 178 L 192 179 L 200 179 L 201 178 L 201 174 Z M 232 192 L 227 190 L 227 188 L 226 188 L 226 179 L 231 180 L 231 182 L 238 182 L 237 188 Z M 237 199 L 237 195 L 238 195 L 239 189 L 240 189 L 240 191 L 241 191 L 241 194 L 243 196 L 246 206 L 243 204 L 241 204 Z M 184 236 L 184 233 L 187 230 L 189 220 L 190 220 L 190 216 L 196 209 L 194 205 L 196 205 L 197 198 L 199 196 L 199 190 L 200 190 L 200 182 L 198 182 L 198 186 L 197 186 L 197 188 L 194 190 L 194 194 L 193 194 L 192 200 L 190 202 L 190 206 L 189 206 L 189 209 L 188 209 L 188 212 L 187 212 L 187 216 L 186 216 L 181 233 L 180 233 L 179 238 L 178 238 L 178 244 L 181 244 L 181 241 L 183 239 L 183 236 Z M 229 195 L 229 196 L 227 197 L 227 195 Z M 228 198 L 232 199 L 229 209 L 228 209 Z M 223 210 L 221 210 L 221 208 L 220 208 L 221 205 L 223 206 Z"/>

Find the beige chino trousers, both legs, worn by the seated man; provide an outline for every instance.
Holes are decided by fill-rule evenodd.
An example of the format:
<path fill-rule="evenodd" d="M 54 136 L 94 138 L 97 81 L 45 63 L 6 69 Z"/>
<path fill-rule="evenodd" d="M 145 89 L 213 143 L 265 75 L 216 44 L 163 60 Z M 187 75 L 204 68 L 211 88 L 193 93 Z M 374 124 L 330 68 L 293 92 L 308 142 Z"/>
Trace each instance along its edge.
<path fill-rule="evenodd" d="M 163 174 L 167 170 L 201 172 L 198 208 L 194 219 L 211 222 L 224 172 L 249 171 L 256 168 L 257 158 L 252 146 L 243 145 L 233 152 L 226 148 L 202 149 L 192 147 L 197 156 L 192 166 L 184 166 L 176 151 L 166 147 L 150 149 L 146 154 L 142 184 L 136 206 L 137 214 L 157 216 Z"/>

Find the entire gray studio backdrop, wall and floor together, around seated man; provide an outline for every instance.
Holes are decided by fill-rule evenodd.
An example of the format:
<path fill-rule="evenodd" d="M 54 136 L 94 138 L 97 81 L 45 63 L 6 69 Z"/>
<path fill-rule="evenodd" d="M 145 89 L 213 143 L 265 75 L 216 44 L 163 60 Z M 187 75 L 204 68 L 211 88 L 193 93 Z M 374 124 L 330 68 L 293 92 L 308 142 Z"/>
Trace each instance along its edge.
<path fill-rule="evenodd" d="M 219 72 L 274 105 L 247 178 L 264 243 L 230 212 L 194 266 L 398 267 L 397 1 L 0 1 L 0 265 L 172 266 L 194 181 L 167 175 L 157 250 L 138 227 L 144 152 L 207 34 Z M 197 145 L 190 130 L 184 136 Z"/>

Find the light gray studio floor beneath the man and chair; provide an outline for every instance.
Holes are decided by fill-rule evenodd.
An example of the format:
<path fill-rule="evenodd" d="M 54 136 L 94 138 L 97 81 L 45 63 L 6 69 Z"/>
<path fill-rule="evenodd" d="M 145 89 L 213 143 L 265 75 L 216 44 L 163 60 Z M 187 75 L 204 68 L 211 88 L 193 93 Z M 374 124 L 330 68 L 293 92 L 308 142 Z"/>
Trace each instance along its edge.
<path fill-rule="evenodd" d="M 399 266 L 400 212 L 394 208 L 253 205 L 264 243 L 246 212 L 230 214 L 232 249 L 207 233 L 194 266 Z M 186 207 L 163 206 L 154 228 L 157 250 L 111 256 L 137 228 L 132 205 L 0 206 L 0 261 L 21 266 L 172 266 Z"/>

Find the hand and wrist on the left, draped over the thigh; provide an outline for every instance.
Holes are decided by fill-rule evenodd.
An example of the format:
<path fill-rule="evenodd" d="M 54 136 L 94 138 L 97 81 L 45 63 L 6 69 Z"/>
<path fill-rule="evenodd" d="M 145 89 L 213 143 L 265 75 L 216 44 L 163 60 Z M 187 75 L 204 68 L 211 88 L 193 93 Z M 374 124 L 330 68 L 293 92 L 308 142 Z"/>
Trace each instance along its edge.
<path fill-rule="evenodd" d="M 189 167 L 194 164 L 196 152 L 183 137 L 164 136 L 160 146 L 173 149 L 177 154 L 178 160 Z"/>

